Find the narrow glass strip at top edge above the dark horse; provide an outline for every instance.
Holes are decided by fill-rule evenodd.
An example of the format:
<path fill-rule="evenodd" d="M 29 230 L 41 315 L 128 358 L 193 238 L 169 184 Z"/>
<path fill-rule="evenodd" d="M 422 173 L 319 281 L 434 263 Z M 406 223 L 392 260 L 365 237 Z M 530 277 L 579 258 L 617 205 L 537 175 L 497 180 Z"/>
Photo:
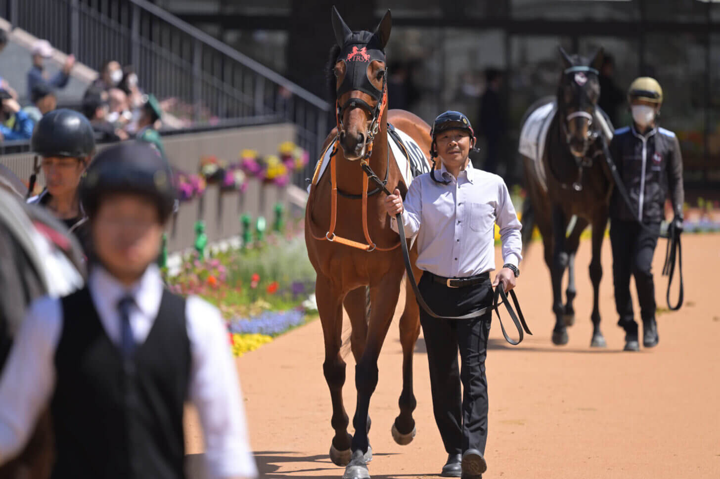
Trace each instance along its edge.
<path fill-rule="evenodd" d="M 516 19 L 636 20 L 639 0 L 511 0 Z M 670 0 L 668 0 L 670 1 Z"/>

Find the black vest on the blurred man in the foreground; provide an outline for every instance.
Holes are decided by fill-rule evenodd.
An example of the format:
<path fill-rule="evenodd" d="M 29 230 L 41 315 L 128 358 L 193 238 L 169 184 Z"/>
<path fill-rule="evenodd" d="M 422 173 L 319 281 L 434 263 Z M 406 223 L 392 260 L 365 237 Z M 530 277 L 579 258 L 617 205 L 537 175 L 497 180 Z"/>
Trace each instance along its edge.
<path fill-rule="evenodd" d="M 181 479 L 190 374 L 185 300 L 168 291 L 125 362 L 86 288 L 66 296 L 55 352 L 53 479 Z"/>

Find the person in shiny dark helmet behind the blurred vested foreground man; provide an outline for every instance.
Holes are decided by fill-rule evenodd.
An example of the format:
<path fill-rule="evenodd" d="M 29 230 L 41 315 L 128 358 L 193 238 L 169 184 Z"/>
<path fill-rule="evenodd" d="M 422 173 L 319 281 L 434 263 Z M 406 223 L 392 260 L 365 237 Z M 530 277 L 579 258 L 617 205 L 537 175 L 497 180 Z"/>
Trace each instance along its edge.
<path fill-rule="evenodd" d="M 87 254 L 90 232 L 80 203 L 79 186 L 95 153 L 90 122 L 78 111 L 50 111 L 37 123 L 30 146 L 42 158 L 45 188 L 27 202 L 49 209 L 75 234 Z"/>

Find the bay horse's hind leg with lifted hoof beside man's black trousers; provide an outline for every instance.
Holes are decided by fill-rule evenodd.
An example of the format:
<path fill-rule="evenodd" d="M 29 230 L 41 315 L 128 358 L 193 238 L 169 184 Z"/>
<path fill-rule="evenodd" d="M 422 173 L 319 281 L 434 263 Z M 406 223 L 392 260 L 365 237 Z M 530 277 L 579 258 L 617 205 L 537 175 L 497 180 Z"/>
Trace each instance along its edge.
<path fill-rule="evenodd" d="M 412 255 L 412 252 L 410 253 Z M 414 260 L 413 260 L 414 263 Z M 413 271 L 420 278 L 420 270 Z M 413 411 L 417 406 L 413 393 L 413 351 L 420 335 L 420 306 L 415 301 L 415 293 L 410 286 L 410 278 L 405 278 L 405 309 L 400 316 L 400 344 L 402 344 L 402 392 L 397 401 L 400 415 L 392 424 L 392 439 L 400 445 L 410 444 L 415 437 L 415 419 Z"/>

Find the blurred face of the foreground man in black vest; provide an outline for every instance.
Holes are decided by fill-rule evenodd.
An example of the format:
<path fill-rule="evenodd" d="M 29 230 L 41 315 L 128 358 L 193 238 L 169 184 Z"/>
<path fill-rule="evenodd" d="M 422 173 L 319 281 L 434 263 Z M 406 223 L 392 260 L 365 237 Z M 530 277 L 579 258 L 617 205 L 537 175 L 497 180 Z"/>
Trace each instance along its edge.
<path fill-rule="evenodd" d="M 99 260 L 119 280 L 137 280 L 158 257 L 163 225 L 158 207 L 144 196 L 115 193 L 104 197 L 91 228 Z"/>

